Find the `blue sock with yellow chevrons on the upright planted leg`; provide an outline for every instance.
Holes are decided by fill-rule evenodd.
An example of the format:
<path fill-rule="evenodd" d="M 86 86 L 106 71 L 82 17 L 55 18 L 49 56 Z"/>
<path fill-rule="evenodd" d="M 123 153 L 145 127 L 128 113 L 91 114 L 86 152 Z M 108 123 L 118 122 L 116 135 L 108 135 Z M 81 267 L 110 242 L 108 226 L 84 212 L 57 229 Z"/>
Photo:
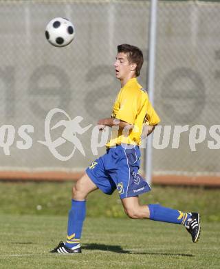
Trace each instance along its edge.
<path fill-rule="evenodd" d="M 74 248 L 80 244 L 80 237 L 85 219 L 86 201 L 76 201 L 72 199 L 72 208 L 69 210 L 67 227 L 67 248 Z"/>

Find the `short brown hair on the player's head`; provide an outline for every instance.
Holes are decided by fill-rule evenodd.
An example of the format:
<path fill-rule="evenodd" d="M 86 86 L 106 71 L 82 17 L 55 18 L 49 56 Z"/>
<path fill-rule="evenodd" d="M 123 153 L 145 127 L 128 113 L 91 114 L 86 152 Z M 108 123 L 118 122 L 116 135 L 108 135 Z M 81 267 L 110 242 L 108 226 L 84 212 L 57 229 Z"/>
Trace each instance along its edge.
<path fill-rule="evenodd" d="M 124 52 L 127 54 L 129 63 L 136 63 L 137 67 L 135 70 L 136 77 L 140 75 L 142 64 L 144 63 L 143 53 L 140 48 L 131 46 L 129 44 L 118 45 L 118 52 Z"/>

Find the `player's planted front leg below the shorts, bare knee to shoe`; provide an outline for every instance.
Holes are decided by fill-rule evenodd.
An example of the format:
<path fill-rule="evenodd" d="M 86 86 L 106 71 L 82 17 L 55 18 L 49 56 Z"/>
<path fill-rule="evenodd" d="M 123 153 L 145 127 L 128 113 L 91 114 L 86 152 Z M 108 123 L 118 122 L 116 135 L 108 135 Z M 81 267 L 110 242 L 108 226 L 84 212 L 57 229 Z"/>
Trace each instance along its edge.
<path fill-rule="evenodd" d="M 61 242 L 52 252 L 61 254 L 81 252 L 80 237 L 86 215 L 85 199 L 90 192 L 97 189 L 86 173 L 76 181 L 76 185 L 72 188 L 72 207 L 68 215 L 67 240 L 65 243 Z"/>

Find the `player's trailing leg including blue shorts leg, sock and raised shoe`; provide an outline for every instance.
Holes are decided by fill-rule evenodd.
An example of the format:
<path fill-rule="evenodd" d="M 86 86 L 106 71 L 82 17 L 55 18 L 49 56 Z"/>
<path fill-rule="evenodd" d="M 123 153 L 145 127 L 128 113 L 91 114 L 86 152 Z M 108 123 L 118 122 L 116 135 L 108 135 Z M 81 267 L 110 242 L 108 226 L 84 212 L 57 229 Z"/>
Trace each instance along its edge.
<path fill-rule="evenodd" d="M 124 155 L 124 159 L 123 159 Z M 135 146 L 129 150 L 121 150 L 121 163 L 118 169 L 118 192 L 124 210 L 134 219 L 151 219 L 169 223 L 183 224 L 192 235 L 192 241 L 199 238 L 200 224 L 198 213 L 181 212 L 165 208 L 159 204 L 140 206 L 137 196 L 151 190 L 146 180 L 138 174 L 140 168 L 140 149 Z"/>

